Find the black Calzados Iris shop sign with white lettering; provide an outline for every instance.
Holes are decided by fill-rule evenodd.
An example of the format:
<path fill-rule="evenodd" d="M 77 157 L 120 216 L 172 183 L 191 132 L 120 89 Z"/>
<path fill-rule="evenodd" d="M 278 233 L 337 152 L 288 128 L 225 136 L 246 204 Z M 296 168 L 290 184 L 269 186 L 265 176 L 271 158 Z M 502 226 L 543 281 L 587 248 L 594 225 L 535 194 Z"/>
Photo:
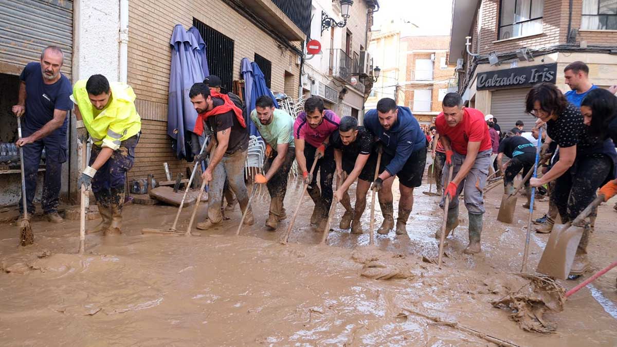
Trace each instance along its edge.
<path fill-rule="evenodd" d="M 540 82 L 555 83 L 557 63 L 478 73 L 477 90 L 518 88 Z"/>

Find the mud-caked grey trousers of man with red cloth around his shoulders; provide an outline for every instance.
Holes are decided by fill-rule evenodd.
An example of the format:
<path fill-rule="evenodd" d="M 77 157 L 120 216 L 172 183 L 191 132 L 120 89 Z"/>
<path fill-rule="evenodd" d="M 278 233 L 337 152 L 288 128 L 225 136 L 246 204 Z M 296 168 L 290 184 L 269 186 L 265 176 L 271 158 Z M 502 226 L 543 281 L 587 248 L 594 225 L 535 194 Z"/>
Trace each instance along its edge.
<path fill-rule="evenodd" d="M 216 147 L 212 148 L 215 153 Z M 212 170 L 212 181 L 208 184 L 208 219 L 212 224 L 220 223 L 223 220 L 221 204 L 223 203 L 223 186 L 225 178 L 228 179 L 231 191 L 236 194 L 240 211 L 244 212 L 249 204 L 249 196 L 246 192 L 244 183 L 244 164 L 248 151 L 236 151 L 231 155 L 225 155 Z M 249 206 L 250 208 L 251 206 Z"/>

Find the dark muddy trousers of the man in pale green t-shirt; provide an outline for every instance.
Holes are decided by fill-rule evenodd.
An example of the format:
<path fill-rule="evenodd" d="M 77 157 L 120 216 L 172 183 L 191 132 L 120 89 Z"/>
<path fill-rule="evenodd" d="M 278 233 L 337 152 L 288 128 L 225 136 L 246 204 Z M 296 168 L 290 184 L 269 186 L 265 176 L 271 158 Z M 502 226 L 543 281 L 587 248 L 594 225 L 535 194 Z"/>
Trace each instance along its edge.
<path fill-rule="evenodd" d="M 263 174 L 270 170 L 272 162 L 278 155 L 276 150 L 272 151 L 272 156 L 266 158 L 263 162 Z M 276 174 L 274 174 L 266 186 L 268 187 L 268 193 L 270 193 L 270 213 L 280 217 L 283 213 L 283 201 L 285 199 L 285 193 L 287 193 L 287 178 L 289 177 L 289 170 L 291 165 L 296 160 L 296 148 L 289 146 L 283 164 L 278 168 Z"/>

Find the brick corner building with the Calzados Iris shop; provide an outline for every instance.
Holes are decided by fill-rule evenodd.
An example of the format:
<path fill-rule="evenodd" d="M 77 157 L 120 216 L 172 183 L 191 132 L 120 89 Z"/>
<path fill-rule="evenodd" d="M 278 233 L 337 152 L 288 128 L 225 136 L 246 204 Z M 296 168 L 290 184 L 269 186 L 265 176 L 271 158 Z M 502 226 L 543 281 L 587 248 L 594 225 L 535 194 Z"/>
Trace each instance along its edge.
<path fill-rule="evenodd" d="M 502 128 L 523 120 L 529 131 L 529 89 L 550 82 L 568 91 L 563 68 L 571 62 L 589 65 L 597 86 L 617 82 L 613 0 L 455 0 L 453 9 L 449 62 L 457 64 L 459 91 Z"/>

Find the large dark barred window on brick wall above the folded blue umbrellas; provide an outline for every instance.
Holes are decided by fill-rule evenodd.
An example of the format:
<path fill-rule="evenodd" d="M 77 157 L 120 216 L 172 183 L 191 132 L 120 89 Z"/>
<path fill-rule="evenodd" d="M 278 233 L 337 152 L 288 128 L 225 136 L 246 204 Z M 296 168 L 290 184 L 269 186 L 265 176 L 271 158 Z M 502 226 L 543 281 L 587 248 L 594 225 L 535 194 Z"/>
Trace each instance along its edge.
<path fill-rule="evenodd" d="M 234 41 L 197 19 L 193 19 L 193 26 L 199 30 L 201 38 L 204 39 L 205 57 L 208 59 L 210 74 L 218 76 L 221 79 L 221 86 L 226 91 L 231 91 Z"/>

